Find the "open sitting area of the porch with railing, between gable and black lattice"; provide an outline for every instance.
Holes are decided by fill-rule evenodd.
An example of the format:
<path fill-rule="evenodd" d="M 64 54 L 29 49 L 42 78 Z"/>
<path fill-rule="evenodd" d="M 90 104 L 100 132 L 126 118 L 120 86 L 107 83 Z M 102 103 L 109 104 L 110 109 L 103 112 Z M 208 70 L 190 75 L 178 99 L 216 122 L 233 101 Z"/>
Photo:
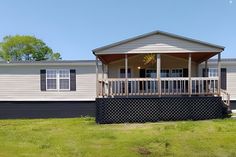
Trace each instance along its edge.
<path fill-rule="evenodd" d="M 97 79 L 97 96 L 220 96 L 220 53 L 217 54 L 218 67 L 214 73 L 198 68 L 204 62 L 205 69 L 208 69 L 207 60 L 213 55 L 156 53 L 98 56 L 102 62 L 102 76 Z M 145 58 L 149 63 L 145 63 Z"/>

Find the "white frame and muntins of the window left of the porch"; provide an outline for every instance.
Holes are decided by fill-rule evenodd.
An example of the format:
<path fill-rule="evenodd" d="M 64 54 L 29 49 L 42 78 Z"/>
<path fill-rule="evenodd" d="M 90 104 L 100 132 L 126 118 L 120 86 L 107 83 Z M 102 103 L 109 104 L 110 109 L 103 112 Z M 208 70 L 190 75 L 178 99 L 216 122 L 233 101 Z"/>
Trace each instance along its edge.
<path fill-rule="evenodd" d="M 54 70 L 56 71 L 56 85 L 57 88 L 56 89 L 48 89 L 48 78 L 47 77 L 47 73 L 50 70 Z M 60 70 L 66 70 L 69 72 L 69 78 L 60 78 Z M 69 88 L 68 89 L 60 89 L 60 79 L 68 79 L 69 80 Z M 70 91 L 70 69 L 46 69 L 46 91 Z"/>

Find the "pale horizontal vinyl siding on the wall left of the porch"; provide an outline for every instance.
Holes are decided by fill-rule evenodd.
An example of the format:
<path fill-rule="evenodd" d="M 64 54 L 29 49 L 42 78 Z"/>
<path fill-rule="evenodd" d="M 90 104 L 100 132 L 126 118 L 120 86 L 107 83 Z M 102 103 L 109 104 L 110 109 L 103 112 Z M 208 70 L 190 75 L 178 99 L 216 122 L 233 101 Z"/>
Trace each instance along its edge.
<path fill-rule="evenodd" d="M 76 91 L 41 91 L 41 69 L 75 69 Z M 0 68 L 0 101 L 87 101 L 96 97 L 95 65 L 21 65 L 1 66 Z M 100 68 L 101 69 L 101 68 Z M 99 74 L 99 77 L 101 75 Z"/>

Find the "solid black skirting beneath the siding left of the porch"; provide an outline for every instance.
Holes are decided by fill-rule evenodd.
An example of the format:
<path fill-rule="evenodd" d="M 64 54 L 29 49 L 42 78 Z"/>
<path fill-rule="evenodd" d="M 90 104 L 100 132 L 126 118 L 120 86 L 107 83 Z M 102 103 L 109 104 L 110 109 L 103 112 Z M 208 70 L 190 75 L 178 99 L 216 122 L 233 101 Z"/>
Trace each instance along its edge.
<path fill-rule="evenodd" d="M 0 119 L 94 117 L 95 101 L 0 101 Z"/>

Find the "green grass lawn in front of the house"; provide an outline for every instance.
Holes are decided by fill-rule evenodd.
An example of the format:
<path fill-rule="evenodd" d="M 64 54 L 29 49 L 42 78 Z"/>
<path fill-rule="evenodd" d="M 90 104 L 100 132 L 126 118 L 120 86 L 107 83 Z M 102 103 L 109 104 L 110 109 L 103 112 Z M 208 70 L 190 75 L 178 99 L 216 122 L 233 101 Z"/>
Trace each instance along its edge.
<path fill-rule="evenodd" d="M 0 157 L 236 157 L 236 120 L 97 125 L 93 118 L 0 120 Z"/>

